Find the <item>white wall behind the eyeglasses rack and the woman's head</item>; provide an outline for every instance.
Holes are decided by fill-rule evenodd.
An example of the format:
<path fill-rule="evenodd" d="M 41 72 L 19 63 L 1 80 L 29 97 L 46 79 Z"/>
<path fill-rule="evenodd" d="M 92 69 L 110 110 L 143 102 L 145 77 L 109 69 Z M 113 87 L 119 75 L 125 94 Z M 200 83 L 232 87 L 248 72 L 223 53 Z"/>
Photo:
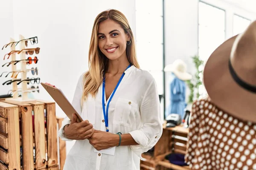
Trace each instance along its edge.
<path fill-rule="evenodd" d="M 135 0 L 1 1 L 0 45 L 9 42 L 9 37 L 18 40 L 19 34 L 26 38 L 38 36 L 38 44 L 29 46 L 41 48 L 40 53 L 36 55 L 39 59 L 38 64 L 29 65 L 27 68 L 38 67 L 41 82 L 49 82 L 61 88 L 67 99 L 72 101 L 77 81 L 88 69 L 88 48 L 94 19 L 100 12 L 109 8 L 124 13 L 136 35 Z M 9 49 L 5 52 L 8 53 Z M 0 54 L 3 56 L 3 51 Z M 2 59 L 0 61 L 2 63 Z M 27 75 L 32 77 L 31 73 Z M 11 88 L 1 85 L 0 94 L 7 93 Z M 41 85 L 39 88 L 40 94 L 35 92 L 33 96 L 52 101 Z M 65 116 L 58 105 L 56 116 Z M 67 153 L 73 143 L 67 142 Z"/>

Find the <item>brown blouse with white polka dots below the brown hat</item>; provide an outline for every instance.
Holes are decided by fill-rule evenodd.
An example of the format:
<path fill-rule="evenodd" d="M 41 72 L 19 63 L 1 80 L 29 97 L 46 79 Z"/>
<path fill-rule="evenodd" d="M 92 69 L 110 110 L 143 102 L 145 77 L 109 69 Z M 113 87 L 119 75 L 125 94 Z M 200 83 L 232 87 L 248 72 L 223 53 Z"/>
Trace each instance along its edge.
<path fill-rule="evenodd" d="M 256 170 L 256 124 L 195 101 L 185 156 L 192 170 Z"/>

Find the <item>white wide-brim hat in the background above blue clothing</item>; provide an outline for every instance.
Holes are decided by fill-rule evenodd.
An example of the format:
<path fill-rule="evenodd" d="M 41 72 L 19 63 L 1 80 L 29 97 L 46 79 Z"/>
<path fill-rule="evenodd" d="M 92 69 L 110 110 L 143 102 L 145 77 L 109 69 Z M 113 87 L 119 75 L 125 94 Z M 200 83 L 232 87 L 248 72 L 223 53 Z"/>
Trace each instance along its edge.
<path fill-rule="evenodd" d="M 191 74 L 186 72 L 186 63 L 181 59 L 177 59 L 172 64 L 166 65 L 164 71 L 171 71 L 178 79 L 183 81 L 192 79 Z"/>

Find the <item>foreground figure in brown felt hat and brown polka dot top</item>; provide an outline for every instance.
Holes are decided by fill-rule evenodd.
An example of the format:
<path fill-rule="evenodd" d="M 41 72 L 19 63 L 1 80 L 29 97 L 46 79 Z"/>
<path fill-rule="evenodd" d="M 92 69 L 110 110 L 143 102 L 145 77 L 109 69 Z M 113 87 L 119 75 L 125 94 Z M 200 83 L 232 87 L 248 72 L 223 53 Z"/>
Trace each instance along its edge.
<path fill-rule="evenodd" d="M 192 170 L 256 170 L 256 21 L 221 44 L 204 68 L 209 95 L 192 106 Z"/>

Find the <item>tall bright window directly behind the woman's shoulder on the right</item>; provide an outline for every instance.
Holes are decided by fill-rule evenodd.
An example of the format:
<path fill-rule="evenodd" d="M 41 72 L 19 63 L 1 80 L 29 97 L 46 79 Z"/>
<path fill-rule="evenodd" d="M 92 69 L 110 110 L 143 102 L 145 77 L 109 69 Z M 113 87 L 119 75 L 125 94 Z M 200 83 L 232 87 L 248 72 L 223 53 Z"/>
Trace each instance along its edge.
<path fill-rule="evenodd" d="M 140 67 L 163 94 L 163 0 L 136 0 L 136 46 Z"/>

